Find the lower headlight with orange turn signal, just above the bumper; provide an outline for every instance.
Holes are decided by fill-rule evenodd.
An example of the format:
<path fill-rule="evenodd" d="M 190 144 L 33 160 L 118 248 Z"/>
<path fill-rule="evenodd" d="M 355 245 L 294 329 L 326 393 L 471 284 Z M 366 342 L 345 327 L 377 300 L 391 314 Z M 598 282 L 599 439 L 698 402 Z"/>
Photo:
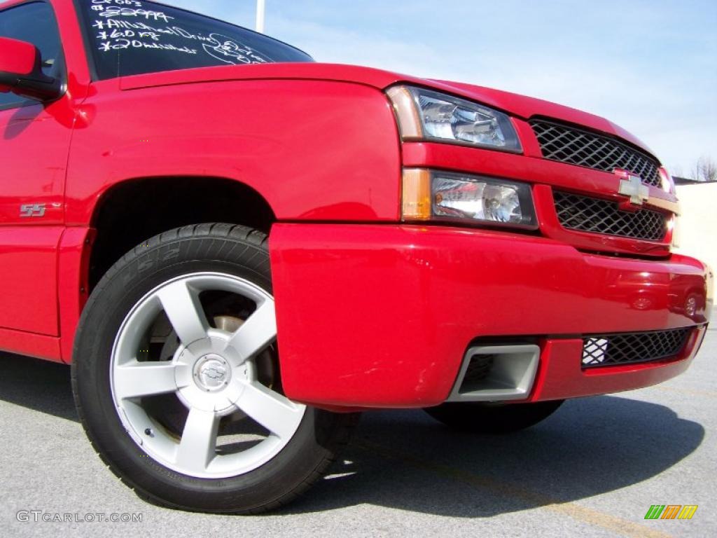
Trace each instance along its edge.
<path fill-rule="evenodd" d="M 489 226 L 538 227 L 531 187 L 517 181 L 406 169 L 403 220 L 453 220 Z"/>

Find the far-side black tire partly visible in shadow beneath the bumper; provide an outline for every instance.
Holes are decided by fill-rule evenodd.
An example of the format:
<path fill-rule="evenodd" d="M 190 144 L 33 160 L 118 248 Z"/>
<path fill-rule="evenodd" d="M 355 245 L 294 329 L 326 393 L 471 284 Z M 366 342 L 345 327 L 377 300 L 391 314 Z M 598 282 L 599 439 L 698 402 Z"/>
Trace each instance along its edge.
<path fill-rule="evenodd" d="M 528 404 L 449 402 L 425 409 L 438 422 L 471 433 L 513 433 L 552 415 L 564 400 Z"/>

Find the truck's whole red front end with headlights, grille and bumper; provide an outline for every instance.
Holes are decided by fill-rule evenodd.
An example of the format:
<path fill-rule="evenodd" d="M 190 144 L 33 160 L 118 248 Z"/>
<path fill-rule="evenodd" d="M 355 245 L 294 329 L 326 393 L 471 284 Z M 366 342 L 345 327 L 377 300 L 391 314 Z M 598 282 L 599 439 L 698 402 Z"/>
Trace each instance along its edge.
<path fill-rule="evenodd" d="M 671 252 L 672 179 L 602 118 L 430 81 L 386 88 L 395 223 L 272 229 L 282 382 L 329 409 L 540 402 L 683 372 L 712 275 Z"/>

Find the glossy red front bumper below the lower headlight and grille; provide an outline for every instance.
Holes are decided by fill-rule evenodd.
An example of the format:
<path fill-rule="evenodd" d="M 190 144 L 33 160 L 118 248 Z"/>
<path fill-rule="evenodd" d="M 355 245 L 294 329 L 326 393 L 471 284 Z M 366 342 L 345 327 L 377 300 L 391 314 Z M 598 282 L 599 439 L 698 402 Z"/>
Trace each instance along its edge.
<path fill-rule="evenodd" d="M 693 258 L 509 232 L 279 224 L 270 254 L 283 389 L 320 407 L 440 404 L 471 344 L 513 337 L 541 349 L 528 401 L 645 387 L 688 367 L 711 311 Z M 695 329 L 678 357 L 581 368 L 583 335 L 680 327 Z"/>

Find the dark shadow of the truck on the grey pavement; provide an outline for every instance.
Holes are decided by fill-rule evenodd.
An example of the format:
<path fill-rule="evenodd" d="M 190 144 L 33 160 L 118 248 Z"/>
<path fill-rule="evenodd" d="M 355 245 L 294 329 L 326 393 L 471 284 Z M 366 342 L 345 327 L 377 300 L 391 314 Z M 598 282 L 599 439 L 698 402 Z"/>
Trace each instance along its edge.
<path fill-rule="evenodd" d="M 70 369 L 0 354 L 0 400 L 77 421 Z M 361 504 L 488 517 L 586 499 L 675 466 L 703 427 L 663 405 L 600 396 L 566 402 L 505 436 L 456 433 L 419 410 L 364 413 L 331 474 L 279 515 Z"/>

